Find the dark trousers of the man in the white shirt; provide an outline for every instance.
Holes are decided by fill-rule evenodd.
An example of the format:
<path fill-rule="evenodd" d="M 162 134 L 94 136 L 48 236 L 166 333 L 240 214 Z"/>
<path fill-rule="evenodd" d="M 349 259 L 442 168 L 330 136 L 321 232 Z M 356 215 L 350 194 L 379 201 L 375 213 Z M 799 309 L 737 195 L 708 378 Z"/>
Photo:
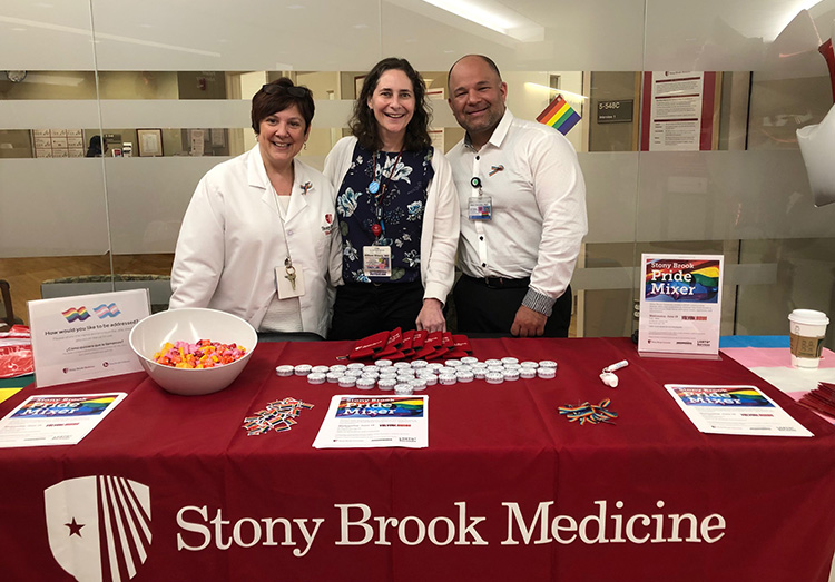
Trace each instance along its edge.
<path fill-rule="evenodd" d="M 462 275 L 452 294 L 455 299 L 458 332 L 462 334 L 505 334 L 528 293 L 528 280 L 505 285 L 488 284 L 484 279 Z M 571 325 L 571 286 L 553 304 L 546 323 L 544 337 L 568 337 Z"/>

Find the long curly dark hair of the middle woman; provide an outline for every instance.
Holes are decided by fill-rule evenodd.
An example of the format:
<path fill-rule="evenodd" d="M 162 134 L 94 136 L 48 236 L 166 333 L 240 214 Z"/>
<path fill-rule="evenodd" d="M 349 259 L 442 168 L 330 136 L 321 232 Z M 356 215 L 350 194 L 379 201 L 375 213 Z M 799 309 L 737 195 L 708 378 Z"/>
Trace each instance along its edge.
<path fill-rule="evenodd" d="M 432 145 L 429 137 L 429 122 L 432 119 L 432 108 L 426 100 L 426 85 L 423 78 L 414 70 L 406 59 L 389 57 L 381 60 L 363 79 L 363 88 L 354 102 L 354 114 L 348 127 L 351 132 L 360 141 L 360 146 L 367 150 L 380 149 L 383 145 L 377 130 L 377 120 L 374 111 L 369 107 L 369 99 L 380 82 L 380 77 L 389 70 L 403 71 L 412 81 L 414 90 L 414 114 L 406 126 L 406 135 L 403 139 L 403 149 L 406 151 L 421 151 Z"/>

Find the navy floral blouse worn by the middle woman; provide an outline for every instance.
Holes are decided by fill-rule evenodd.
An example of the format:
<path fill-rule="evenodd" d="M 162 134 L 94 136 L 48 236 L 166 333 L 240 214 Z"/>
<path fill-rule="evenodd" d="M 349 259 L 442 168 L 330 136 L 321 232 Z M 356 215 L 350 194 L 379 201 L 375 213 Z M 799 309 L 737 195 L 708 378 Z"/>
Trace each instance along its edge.
<path fill-rule="evenodd" d="M 343 278 L 346 283 L 420 280 L 423 210 L 435 174 L 432 148 L 402 154 L 377 151 L 376 168 L 373 166 L 374 152 L 357 144 L 336 199 Z M 380 185 L 376 196 L 369 189 L 375 178 Z M 379 236 L 373 233 L 375 225 L 381 229 Z M 391 247 L 391 277 L 369 277 L 363 273 L 363 247 L 374 245 Z"/>

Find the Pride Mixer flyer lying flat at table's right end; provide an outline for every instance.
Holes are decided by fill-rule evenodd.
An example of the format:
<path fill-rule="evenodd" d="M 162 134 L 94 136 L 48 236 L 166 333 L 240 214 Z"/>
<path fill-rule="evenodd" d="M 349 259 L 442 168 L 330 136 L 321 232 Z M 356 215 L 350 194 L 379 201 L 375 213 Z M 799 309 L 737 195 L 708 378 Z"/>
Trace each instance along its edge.
<path fill-rule="evenodd" d="M 664 387 L 703 433 L 814 436 L 755 386 Z"/>

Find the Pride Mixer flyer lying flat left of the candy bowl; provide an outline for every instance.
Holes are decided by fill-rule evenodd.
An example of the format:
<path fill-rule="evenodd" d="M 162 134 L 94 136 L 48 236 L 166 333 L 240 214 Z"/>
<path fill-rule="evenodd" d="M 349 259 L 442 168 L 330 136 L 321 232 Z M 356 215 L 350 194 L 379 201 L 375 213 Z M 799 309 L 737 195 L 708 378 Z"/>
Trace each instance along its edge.
<path fill-rule="evenodd" d="M 29 396 L 0 420 L 0 448 L 73 445 L 127 394 Z"/>

